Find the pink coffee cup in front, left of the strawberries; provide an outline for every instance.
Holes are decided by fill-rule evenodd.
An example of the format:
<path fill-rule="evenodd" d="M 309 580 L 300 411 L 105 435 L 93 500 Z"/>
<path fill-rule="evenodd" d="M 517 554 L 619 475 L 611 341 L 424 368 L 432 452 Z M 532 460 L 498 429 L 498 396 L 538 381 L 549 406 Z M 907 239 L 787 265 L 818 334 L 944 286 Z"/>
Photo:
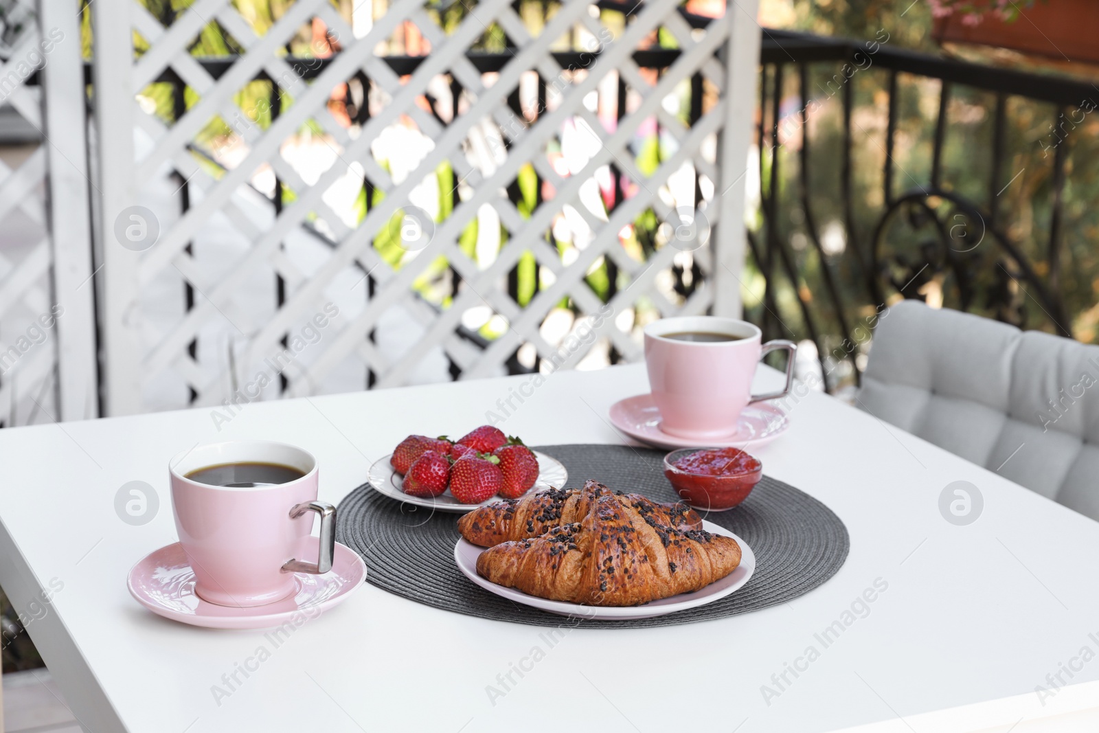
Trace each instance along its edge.
<path fill-rule="evenodd" d="M 199 468 L 234 463 L 279 464 L 304 476 L 246 488 L 187 478 Z M 273 603 L 295 591 L 295 573 L 332 568 L 335 507 L 317 501 L 317 459 L 308 451 L 267 441 L 211 443 L 180 453 L 168 471 L 179 542 L 195 570 L 195 592 L 203 600 L 241 608 Z M 315 564 L 301 559 L 312 512 L 321 517 Z"/>

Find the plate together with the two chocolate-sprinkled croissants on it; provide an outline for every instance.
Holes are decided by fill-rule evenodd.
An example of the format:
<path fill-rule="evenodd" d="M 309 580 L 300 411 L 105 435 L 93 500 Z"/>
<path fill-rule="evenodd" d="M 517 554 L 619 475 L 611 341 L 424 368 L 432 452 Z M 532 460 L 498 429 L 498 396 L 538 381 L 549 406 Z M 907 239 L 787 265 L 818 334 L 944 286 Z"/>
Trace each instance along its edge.
<path fill-rule="evenodd" d="M 455 562 L 515 602 L 588 619 L 647 619 L 724 598 L 755 557 L 684 503 L 612 491 L 543 489 L 458 520 Z M 487 547 L 487 549 L 480 549 Z"/>

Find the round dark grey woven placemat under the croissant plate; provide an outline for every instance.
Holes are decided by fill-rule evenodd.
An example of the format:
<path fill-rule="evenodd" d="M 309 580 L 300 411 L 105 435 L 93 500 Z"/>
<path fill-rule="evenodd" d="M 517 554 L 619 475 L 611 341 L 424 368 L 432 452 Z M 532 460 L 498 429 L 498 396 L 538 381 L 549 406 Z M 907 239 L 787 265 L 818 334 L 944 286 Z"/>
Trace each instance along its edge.
<path fill-rule="evenodd" d="M 535 449 L 568 468 L 568 487 L 593 478 L 614 490 L 659 501 L 678 499 L 664 477 L 663 451 L 623 445 L 546 445 Z M 563 617 L 496 596 L 454 564 L 460 514 L 432 512 L 385 497 L 368 485 L 352 491 L 336 514 L 336 540 L 366 563 L 367 582 L 391 593 L 467 615 L 557 626 Z M 656 619 L 584 621 L 585 626 L 664 626 L 721 619 L 788 601 L 840 569 L 850 546 L 847 527 L 828 507 L 764 476 L 740 507 L 704 519 L 735 532 L 752 547 L 755 574 L 720 601 Z"/>

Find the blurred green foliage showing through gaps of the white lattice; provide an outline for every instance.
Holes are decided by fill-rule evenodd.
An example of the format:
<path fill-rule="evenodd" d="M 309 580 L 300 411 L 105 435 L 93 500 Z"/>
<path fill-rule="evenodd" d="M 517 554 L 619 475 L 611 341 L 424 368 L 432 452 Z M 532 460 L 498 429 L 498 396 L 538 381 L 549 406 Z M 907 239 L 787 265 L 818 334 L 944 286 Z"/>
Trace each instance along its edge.
<path fill-rule="evenodd" d="M 386 0 L 371 1 L 374 14 L 376 16 L 386 12 Z M 188 12 L 188 9 L 193 4 L 195 0 L 138 0 L 138 2 L 141 2 L 145 9 L 162 24 L 168 26 L 181 14 Z M 249 23 L 257 35 L 263 34 L 275 22 L 277 22 L 291 4 L 292 0 L 233 0 L 233 5 Z M 88 0 L 81 0 L 81 7 L 84 8 L 84 49 L 87 58 L 90 58 L 92 53 L 90 24 L 91 13 L 89 5 L 90 3 Z M 343 15 L 346 22 L 351 22 L 352 2 L 349 0 L 332 0 L 332 5 Z M 522 0 L 522 2 L 519 3 L 518 10 L 526 29 L 532 35 L 534 35 L 541 32 L 547 19 L 552 18 L 558 8 L 559 2 L 556 1 Z M 434 22 L 436 22 L 445 33 L 454 32 L 454 30 L 457 29 L 469 12 L 467 3 L 457 2 L 455 0 L 429 0 L 429 2 L 425 3 L 424 9 L 426 14 Z M 614 32 L 620 32 L 625 24 L 624 15 L 613 11 L 603 11 L 602 20 L 604 24 Z M 310 27 L 309 25 L 302 26 L 302 29 L 299 30 L 293 38 L 287 43 L 286 46 L 279 51 L 279 53 L 304 58 L 318 55 L 318 44 L 315 43 L 313 35 L 315 32 L 315 29 Z M 403 30 L 401 30 L 395 33 L 389 42 L 382 44 L 382 46 L 388 46 L 388 49 L 379 47 L 378 53 L 389 53 L 392 55 L 406 53 L 404 42 L 406 36 L 403 35 Z M 579 47 L 576 45 L 577 43 L 578 37 L 575 34 L 570 34 L 555 42 L 554 47 L 558 49 Z M 664 30 L 658 33 L 655 38 L 655 43 L 656 45 L 663 47 L 678 47 L 675 36 Z M 503 30 L 498 24 L 492 23 L 485 29 L 485 32 L 480 35 L 478 41 L 473 44 L 473 51 L 499 53 L 503 52 L 507 45 L 508 38 Z M 135 55 L 141 56 L 148 51 L 148 40 L 142 37 L 141 34 L 135 31 Z M 214 20 L 202 26 L 200 33 L 189 45 L 189 51 L 196 57 L 217 58 L 238 55 L 244 51 L 244 48 L 237 40 L 233 38 L 232 35 Z M 326 51 L 326 48 L 323 51 Z M 570 77 L 574 73 L 571 71 L 566 71 L 565 76 Z M 682 89 L 679 90 L 678 96 L 681 98 L 682 102 L 680 104 L 678 115 L 686 121 L 689 87 L 684 85 Z M 191 107 L 199 101 L 199 97 L 190 87 L 185 87 L 180 90 L 171 82 L 157 81 L 148 85 L 144 90 L 142 90 L 140 100 L 146 111 L 159 118 L 165 125 L 170 126 L 182 111 L 191 109 Z M 214 177 L 220 177 L 224 173 L 217 163 L 219 157 L 217 155 L 217 151 L 236 144 L 236 138 L 238 137 L 238 133 L 242 127 L 255 125 L 259 130 L 267 130 L 273 123 L 274 116 L 276 116 L 276 111 L 285 111 L 293 104 L 293 100 L 285 91 L 276 89 L 270 81 L 266 80 L 251 81 L 244 85 L 241 90 L 234 95 L 233 101 L 241 110 L 240 115 L 234 120 L 224 120 L 220 115 L 212 116 L 203 129 L 195 136 L 191 143 L 193 148 L 198 153 L 201 153 L 201 155 L 197 157 L 199 164 Z M 310 120 L 302 125 L 302 127 L 298 131 L 298 134 L 324 136 L 325 132 L 315 120 Z M 652 174 L 659 165 L 662 155 L 664 154 L 664 151 L 662 151 L 662 146 L 665 143 L 658 138 L 655 131 L 647 136 L 639 136 L 635 146 L 635 164 L 644 175 Z M 552 141 L 550 143 L 550 152 L 557 154 L 560 153 L 557 141 Z M 389 162 L 387 159 L 379 158 L 378 163 L 384 168 L 388 169 Z M 435 176 L 440 191 L 439 221 L 444 221 L 451 214 L 454 207 L 454 199 L 451 192 L 455 190 L 456 181 L 453 170 L 447 164 L 440 166 Z M 633 185 L 636 186 L 636 184 Z M 540 187 L 541 180 L 534 167 L 532 165 L 523 166 L 518 174 L 514 187 L 510 189 L 518 193 L 518 196 L 514 197 L 513 203 L 520 212 L 520 215 L 523 218 L 530 218 L 537 207 L 540 201 Z M 284 203 L 288 203 L 296 198 L 296 192 L 289 189 L 286 184 L 280 184 L 280 196 L 282 197 Z M 373 187 L 370 187 L 370 192 L 368 195 L 367 185 L 364 182 L 364 186 L 354 204 L 353 214 L 355 220 L 363 221 L 367 212 L 380 202 L 384 196 L 384 191 Z M 367 200 L 368 198 L 369 201 Z M 603 215 L 606 215 L 606 211 L 602 212 Z M 409 257 L 408 254 L 399 246 L 399 237 L 395 238 L 395 233 L 399 235 L 399 223 L 402 215 L 403 211 L 396 212 L 391 220 L 379 229 L 374 238 L 374 246 L 382 259 L 396 268 L 399 268 L 406 262 L 411 262 L 413 259 Z M 624 243 L 624 246 L 639 262 L 646 258 L 655 249 L 656 229 L 658 224 L 659 222 L 652 210 L 644 212 L 635 222 L 632 233 L 630 233 L 628 237 L 629 241 Z M 571 241 L 556 241 L 553 233 L 550 231 L 546 232 L 545 236 L 547 240 L 553 241 L 556 244 L 563 256 L 565 256 L 567 249 L 575 246 Z M 508 237 L 509 233 L 501 229 L 499 246 L 502 247 L 508 241 Z M 486 254 L 491 258 L 495 258 L 495 255 L 491 255 L 491 253 L 478 253 L 477 240 L 478 222 L 474 219 L 464 227 L 459 238 L 460 248 L 475 260 L 478 260 L 480 256 Z M 444 277 L 447 273 L 446 265 L 447 263 L 444 258 L 439 258 L 430 263 L 426 267 L 424 267 L 423 273 L 418 277 L 414 284 L 414 288 L 424 298 L 444 308 L 447 307 L 452 300 L 448 278 Z M 417 266 L 421 267 L 423 266 L 423 263 Z M 513 293 L 515 295 L 521 307 L 525 307 L 534 298 L 540 288 L 540 281 L 544 279 L 544 277 L 545 274 L 542 271 L 542 268 L 539 266 L 533 254 L 529 252 L 524 253 L 520 257 L 517 265 L 517 287 Z M 613 284 L 611 282 L 612 277 L 617 278 Z M 624 287 L 629 284 L 629 279 L 624 276 L 614 276 L 613 271 L 609 269 L 608 265 L 602 259 L 598 260 L 592 267 L 587 281 L 595 293 L 602 300 L 610 298 L 617 287 Z M 569 298 L 565 298 L 560 304 L 563 307 L 571 308 Z M 499 334 L 493 331 L 493 329 L 499 327 L 500 324 L 497 323 L 496 325 L 488 327 L 487 331 L 482 330 L 482 334 L 489 338 L 495 337 Z"/>

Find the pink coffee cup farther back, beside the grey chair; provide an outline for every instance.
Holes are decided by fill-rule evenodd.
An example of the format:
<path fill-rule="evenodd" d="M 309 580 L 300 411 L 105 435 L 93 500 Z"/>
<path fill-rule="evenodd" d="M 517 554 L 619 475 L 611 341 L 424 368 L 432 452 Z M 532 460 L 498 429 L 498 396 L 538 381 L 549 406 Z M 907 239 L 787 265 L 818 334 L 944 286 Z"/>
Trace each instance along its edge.
<path fill-rule="evenodd" d="M 690 342 L 666 337 L 676 333 L 718 333 L 735 341 Z M 785 397 L 793 384 L 797 346 L 789 341 L 761 344 L 759 329 L 747 321 L 690 315 L 654 321 L 645 326 L 645 364 L 653 400 L 660 411 L 660 430 L 669 435 L 706 442 L 736 432 L 741 411 L 750 402 Z M 767 395 L 752 393 L 759 359 L 785 349 L 786 387 Z"/>

